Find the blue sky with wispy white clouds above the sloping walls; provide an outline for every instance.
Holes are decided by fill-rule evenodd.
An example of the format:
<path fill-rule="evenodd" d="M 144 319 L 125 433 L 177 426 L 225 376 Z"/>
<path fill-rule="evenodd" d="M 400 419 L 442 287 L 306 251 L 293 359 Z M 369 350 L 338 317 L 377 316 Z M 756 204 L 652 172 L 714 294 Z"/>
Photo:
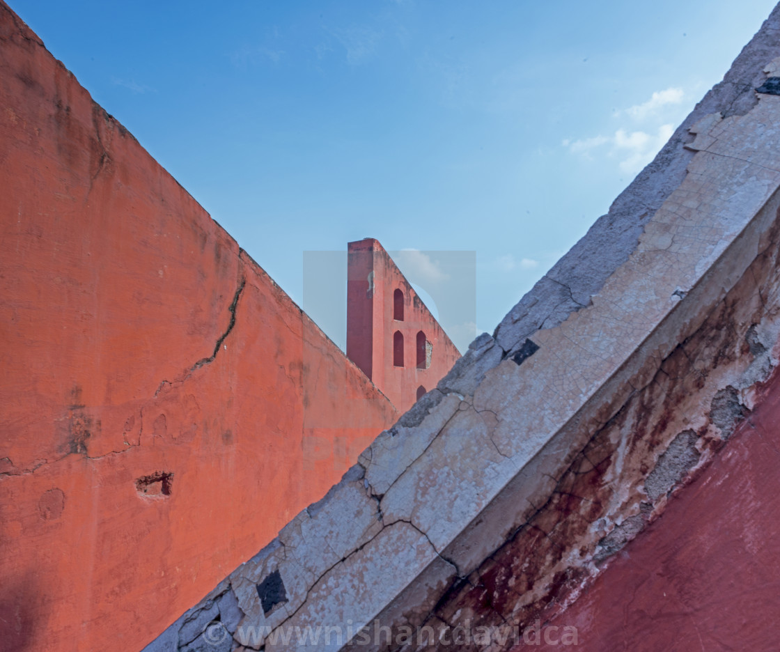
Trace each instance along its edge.
<path fill-rule="evenodd" d="M 304 251 L 471 250 L 492 331 L 774 2 L 11 6 L 297 302 Z"/>

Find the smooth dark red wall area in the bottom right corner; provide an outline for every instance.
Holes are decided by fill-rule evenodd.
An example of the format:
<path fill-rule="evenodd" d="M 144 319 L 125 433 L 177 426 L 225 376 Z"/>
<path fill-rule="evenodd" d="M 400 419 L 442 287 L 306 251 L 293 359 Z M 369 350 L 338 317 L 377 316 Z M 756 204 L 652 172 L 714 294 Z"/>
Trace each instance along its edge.
<path fill-rule="evenodd" d="M 711 466 L 550 624 L 578 645 L 520 650 L 777 650 L 780 374 Z M 535 635 L 529 633 L 535 642 Z"/>

